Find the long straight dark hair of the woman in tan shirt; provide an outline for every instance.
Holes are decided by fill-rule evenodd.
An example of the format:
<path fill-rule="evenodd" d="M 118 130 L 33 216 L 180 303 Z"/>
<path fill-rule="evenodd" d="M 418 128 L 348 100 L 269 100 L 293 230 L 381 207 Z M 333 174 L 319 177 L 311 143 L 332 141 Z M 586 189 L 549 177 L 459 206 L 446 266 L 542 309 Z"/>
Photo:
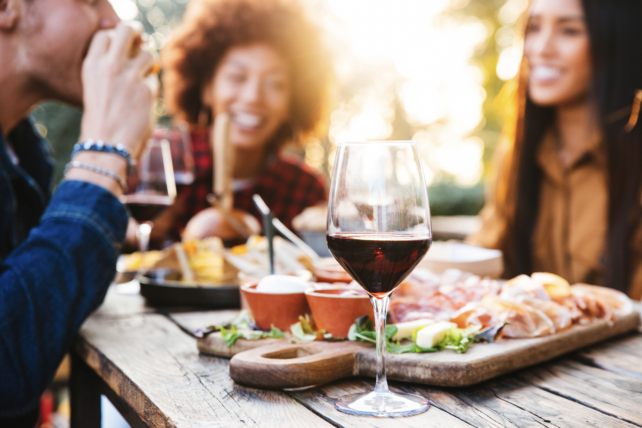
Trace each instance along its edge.
<path fill-rule="evenodd" d="M 631 273 L 630 239 L 641 207 L 642 124 L 632 130 L 625 130 L 625 125 L 636 90 L 642 89 L 642 2 L 582 0 L 582 5 L 593 59 L 591 97 L 598 107 L 609 168 L 609 224 L 601 285 L 626 291 Z M 514 215 L 505 247 L 510 276 L 532 273 L 532 237 L 542 180 L 535 154 L 555 119 L 554 108 L 530 101 L 525 85 L 522 79 L 523 116 L 517 121 L 512 166 L 516 178 L 512 180 L 516 184 Z"/>

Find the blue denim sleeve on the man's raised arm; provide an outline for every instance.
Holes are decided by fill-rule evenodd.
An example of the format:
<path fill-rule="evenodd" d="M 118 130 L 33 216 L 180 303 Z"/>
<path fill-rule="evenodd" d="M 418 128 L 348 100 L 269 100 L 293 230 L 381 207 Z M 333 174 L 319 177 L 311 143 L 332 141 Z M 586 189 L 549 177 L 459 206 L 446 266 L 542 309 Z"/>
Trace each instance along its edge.
<path fill-rule="evenodd" d="M 125 207 L 65 181 L 0 273 L 0 418 L 37 406 L 76 331 L 105 297 L 125 238 Z"/>

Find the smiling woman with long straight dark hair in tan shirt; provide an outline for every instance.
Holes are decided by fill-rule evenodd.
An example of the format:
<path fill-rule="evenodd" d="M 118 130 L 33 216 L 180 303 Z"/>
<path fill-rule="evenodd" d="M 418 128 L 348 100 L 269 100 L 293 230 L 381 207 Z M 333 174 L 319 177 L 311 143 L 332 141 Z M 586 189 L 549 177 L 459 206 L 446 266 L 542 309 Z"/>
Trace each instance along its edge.
<path fill-rule="evenodd" d="M 473 237 L 507 277 L 557 273 L 642 296 L 642 4 L 534 0 L 516 130 Z"/>

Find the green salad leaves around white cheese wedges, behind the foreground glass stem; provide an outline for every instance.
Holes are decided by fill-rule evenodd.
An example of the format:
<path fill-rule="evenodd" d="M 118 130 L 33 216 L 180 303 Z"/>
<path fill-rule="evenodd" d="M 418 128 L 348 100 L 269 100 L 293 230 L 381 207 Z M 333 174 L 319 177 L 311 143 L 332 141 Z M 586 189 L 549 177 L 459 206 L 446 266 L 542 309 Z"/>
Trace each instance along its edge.
<path fill-rule="evenodd" d="M 417 330 L 413 332 L 413 342 L 417 339 Z M 407 352 L 437 352 L 442 349 L 452 349 L 457 354 L 462 354 L 475 341 L 479 332 L 479 326 L 476 325 L 467 329 L 452 327 L 444 339 L 437 343 L 435 347 L 421 348 L 416 343 L 401 345 L 400 341 L 392 341 L 392 337 L 397 333 L 397 327 L 386 325 L 386 351 L 390 352 L 390 354 L 405 354 Z M 348 332 L 348 339 L 376 343 L 376 332 L 374 331 L 372 320 L 369 320 L 367 315 L 354 320 L 354 324 L 351 325 Z"/>

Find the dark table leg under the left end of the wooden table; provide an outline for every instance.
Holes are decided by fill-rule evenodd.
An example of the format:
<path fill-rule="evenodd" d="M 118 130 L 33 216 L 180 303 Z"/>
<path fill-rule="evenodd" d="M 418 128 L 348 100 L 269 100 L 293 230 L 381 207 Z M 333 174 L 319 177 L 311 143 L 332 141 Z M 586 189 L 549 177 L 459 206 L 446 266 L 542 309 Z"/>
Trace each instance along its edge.
<path fill-rule="evenodd" d="M 71 428 L 100 428 L 100 379 L 71 352 Z"/>

